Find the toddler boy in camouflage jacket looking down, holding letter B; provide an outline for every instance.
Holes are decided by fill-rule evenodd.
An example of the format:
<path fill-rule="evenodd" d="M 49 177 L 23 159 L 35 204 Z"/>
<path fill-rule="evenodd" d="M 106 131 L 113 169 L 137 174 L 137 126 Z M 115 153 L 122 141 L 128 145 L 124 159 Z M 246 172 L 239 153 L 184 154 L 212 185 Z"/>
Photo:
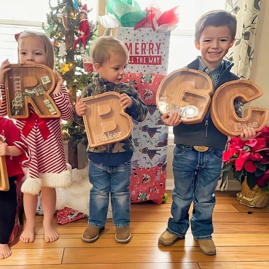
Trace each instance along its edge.
<path fill-rule="evenodd" d="M 93 83 L 81 93 L 81 98 L 118 92 L 120 105 L 134 120 L 141 122 L 147 116 L 147 107 L 128 84 L 121 83 L 128 64 L 129 53 L 123 42 L 112 36 L 99 37 L 91 48 L 93 65 L 98 72 Z M 82 115 L 86 104 L 78 102 L 74 119 L 83 125 Z M 106 146 L 87 148 L 89 158 L 89 178 L 93 187 L 90 192 L 89 226 L 82 240 L 95 242 L 105 229 L 109 196 L 111 194 L 113 222 L 116 226 L 115 239 L 118 243 L 131 240 L 130 225 L 130 177 L 131 158 L 134 151 L 132 135 L 127 139 Z"/>

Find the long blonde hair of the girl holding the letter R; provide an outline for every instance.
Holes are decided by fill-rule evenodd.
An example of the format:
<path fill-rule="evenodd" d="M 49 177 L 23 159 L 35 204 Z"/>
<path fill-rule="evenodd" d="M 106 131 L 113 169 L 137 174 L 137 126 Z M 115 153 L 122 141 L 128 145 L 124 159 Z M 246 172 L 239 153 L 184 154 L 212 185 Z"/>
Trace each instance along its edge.
<path fill-rule="evenodd" d="M 42 39 L 42 41 L 44 42 L 45 50 L 46 50 L 46 66 L 54 70 L 54 49 L 48 36 L 42 32 L 25 30 L 19 34 L 19 37 L 17 40 L 18 41 L 18 63 L 20 63 L 19 62 L 19 41 L 22 38 L 25 38 L 27 36 L 36 36 Z"/>

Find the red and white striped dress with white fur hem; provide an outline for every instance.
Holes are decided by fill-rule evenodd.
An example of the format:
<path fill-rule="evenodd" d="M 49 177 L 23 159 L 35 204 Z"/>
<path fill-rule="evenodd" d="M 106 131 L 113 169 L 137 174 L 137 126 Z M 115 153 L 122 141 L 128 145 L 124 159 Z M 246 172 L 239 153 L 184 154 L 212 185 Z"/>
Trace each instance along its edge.
<path fill-rule="evenodd" d="M 0 84 L 3 98 L 0 115 L 7 115 L 4 85 Z M 71 184 L 71 167 L 66 163 L 61 136 L 60 119 L 69 121 L 73 118 L 73 107 L 67 89 L 52 95 L 61 112 L 61 118 L 39 118 L 31 109 L 26 119 L 16 119 L 16 126 L 21 137 L 30 149 L 30 159 L 25 165 L 25 180 L 21 191 L 38 194 L 41 186 L 67 187 Z"/>

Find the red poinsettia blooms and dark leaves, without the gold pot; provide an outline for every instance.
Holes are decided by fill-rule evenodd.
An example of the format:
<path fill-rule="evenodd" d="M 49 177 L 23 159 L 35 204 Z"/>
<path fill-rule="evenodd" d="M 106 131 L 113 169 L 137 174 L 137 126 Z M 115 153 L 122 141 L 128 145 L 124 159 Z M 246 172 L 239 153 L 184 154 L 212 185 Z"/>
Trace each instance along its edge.
<path fill-rule="evenodd" d="M 223 161 L 224 173 L 232 169 L 240 183 L 246 179 L 250 189 L 256 184 L 269 189 L 269 126 L 251 140 L 231 138 L 228 149 L 223 152 Z"/>

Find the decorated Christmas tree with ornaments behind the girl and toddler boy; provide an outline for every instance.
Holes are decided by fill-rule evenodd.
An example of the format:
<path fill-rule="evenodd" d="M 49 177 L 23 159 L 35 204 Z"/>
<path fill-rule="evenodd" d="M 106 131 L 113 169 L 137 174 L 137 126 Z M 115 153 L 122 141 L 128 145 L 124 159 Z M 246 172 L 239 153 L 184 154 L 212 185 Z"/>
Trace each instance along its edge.
<path fill-rule="evenodd" d="M 55 6 L 49 0 L 49 7 L 50 12 L 47 14 L 47 24 L 49 26 L 43 27 L 46 34 L 52 39 L 54 46 L 55 70 L 66 81 L 71 103 L 75 105 L 77 91 L 87 86 L 93 76 L 92 72 L 85 70 L 82 56 L 85 58 L 85 55 L 89 55 L 90 43 L 96 37 L 97 28 L 92 21 L 88 21 L 87 13 L 89 10 L 86 10 L 87 5 L 82 5 L 79 0 L 58 0 Z M 84 20 L 89 23 L 89 36 L 85 38 L 86 46 L 83 41 L 78 42 L 76 47 L 73 48 L 75 40 L 81 38 L 84 34 L 80 32 L 82 15 L 83 18 L 86 18 Z M 63 138 L 70 139 L 69 163 L 72 167 L 77 167 L 77 144 L 79 142 L 87 144 L 85 129 L 73 121 L 62 124 L 62 129 Z"/>

